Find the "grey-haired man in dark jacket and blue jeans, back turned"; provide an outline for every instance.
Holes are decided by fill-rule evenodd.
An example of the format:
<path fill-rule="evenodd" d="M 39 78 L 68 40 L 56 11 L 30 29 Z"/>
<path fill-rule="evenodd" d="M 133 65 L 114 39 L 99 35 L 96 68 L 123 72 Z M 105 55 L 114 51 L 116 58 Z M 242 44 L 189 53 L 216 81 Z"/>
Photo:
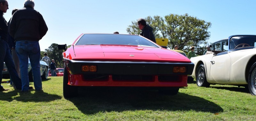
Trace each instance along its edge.
<path fill-rule="evenodd" d="M 39 40 L 48 31 L 43 16 L 34 10 L 33 0 L 25 0 L 24 8 L 17 10 L 10 22 L 10 35 L 16 41 L 16 52 L 20 60 L 22 90 L 28 91 L 28 58 L 32 66 L 34 86 L 36 91 L 42 90 L 40 74 Z"/>

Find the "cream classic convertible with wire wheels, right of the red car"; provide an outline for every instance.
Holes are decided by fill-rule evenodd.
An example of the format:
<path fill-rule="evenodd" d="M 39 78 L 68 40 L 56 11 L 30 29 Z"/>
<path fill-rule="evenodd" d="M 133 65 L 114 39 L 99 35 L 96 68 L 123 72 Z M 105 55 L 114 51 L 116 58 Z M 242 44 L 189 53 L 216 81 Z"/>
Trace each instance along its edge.
<path fill-rule="evenodd" d="M 233 35 L 213 43 L 212 51 L 190 59 L 199 87 L 210 84 L 248 88 L 256 95 L 256 35 Z"/>

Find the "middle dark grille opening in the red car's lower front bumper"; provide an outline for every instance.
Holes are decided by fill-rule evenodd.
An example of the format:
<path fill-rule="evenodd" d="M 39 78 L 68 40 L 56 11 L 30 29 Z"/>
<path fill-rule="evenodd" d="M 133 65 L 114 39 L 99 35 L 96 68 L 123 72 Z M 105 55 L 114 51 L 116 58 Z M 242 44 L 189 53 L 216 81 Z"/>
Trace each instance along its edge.
<path fill-rule="evenodd" d="M 112 75 L 113 81 L 154 81 L 152 75 Z"/>

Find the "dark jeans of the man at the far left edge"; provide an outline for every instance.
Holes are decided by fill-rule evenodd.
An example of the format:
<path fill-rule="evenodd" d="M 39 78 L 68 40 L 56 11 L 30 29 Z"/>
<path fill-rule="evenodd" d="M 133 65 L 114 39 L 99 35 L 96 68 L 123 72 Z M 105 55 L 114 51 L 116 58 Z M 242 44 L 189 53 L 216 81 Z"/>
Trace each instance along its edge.
<path fill-rule="evenodd" d="M 2 70 L 4 69 L 4 62 L 5 62 L 5 65 L 9 71 L 10 77 L 12 78 L 12 82 L 14 83 L 16 89 L 21 89 L 21 80 L 15 69 L 15 65 L 12 60 L 11 50 L 7 42 L 3 40 L 0 40 L 0 55 L 1 55 L 0 56 L 0 70 L 1 70 L 0 71 L 0 88 L 3 88 L 1 86 L 1 82 L 3 78 Z"/>

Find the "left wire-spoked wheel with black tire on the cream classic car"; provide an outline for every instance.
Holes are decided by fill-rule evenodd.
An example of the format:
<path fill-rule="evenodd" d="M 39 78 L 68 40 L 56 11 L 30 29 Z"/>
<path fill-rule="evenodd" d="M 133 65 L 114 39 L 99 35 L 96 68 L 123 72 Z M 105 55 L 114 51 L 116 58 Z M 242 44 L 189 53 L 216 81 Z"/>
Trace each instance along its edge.
<path fill-rule="evenodd" d="M 198 87 L 210 87 L 210 83 L 206 80 L 204 64 L 199 65 L 196 71 L 196 85 Z"/>

